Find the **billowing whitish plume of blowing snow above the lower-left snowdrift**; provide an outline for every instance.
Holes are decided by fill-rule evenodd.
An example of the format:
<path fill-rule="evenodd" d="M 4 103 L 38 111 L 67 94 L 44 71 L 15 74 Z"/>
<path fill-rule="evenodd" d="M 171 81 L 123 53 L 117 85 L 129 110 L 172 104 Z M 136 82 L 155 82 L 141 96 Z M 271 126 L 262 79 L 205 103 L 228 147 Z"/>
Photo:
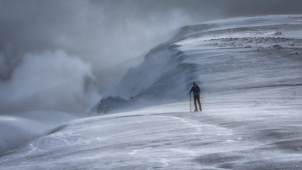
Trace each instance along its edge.
<path fill-rule="evenodd" d="M 98 96 L 91 67 L 64 51 L 26 54 L 1 84 L 1 112 L 57 110 L 83 114 Z"/>

